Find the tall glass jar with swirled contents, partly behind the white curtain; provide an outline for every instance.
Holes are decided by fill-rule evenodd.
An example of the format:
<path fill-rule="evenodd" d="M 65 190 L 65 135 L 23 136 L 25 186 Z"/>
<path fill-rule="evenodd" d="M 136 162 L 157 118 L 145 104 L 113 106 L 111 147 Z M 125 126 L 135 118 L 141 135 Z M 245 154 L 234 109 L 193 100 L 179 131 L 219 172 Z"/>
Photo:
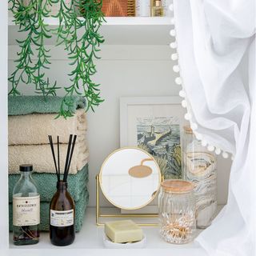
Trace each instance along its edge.
<path fill-rule="evenodd" d="M 217 159 L 195 138 L 190 126 L 182 136 L 182 175 L 194 182 L 198 228 L 210 226 L 217 210 Z"/>

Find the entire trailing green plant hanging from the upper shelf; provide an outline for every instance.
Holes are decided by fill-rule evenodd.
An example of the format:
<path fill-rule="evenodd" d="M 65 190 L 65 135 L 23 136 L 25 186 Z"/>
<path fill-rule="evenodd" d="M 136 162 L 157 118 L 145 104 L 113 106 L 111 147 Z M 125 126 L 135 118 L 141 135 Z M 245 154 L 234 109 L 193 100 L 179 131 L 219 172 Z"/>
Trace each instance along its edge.
<path fill-rule="evenodd" d="M 104 42 L 98 30 L 104 22 L 102 14 L 102 0 L 10 0 L 14 14 L 14 22 L 19 26 L 19 32 L 26 32 L 24 40 L 17 40 L 20 52 L 16 69 L 10 75 L 11 95 L 19 95 L 18 85 L 34 84 L 37 93 L 44 96 L 56 95 L 60 89 L 57 82 L 50 85 L 46 78 L 45 69 L 50 65 L 49 50 L 45 47 L 46 38 L 57 35 L 57 45 L 64 45 L 68 52 L 70 65 L 74 69 L 70 72 L 70 85 L 64 86 L 66 91 L 58 114 L 64 118 L 72 116 L 75 94 L 87 99 L 87 110 L 94 110 L 103 100 L 100 97 L 99 84 L 93 82 L 96 74 L 94 60 L 98 57 L 100 45 Z M 50 16 L 50 6 L 58 5 L 58 28 L 50 30 L 44 19 Z M 82 17 L 78 17 L 82 14 Z M 33 48 L 35 45 L 37 48 Z M 37 56 L 37 62 L 32 58 Z"/>

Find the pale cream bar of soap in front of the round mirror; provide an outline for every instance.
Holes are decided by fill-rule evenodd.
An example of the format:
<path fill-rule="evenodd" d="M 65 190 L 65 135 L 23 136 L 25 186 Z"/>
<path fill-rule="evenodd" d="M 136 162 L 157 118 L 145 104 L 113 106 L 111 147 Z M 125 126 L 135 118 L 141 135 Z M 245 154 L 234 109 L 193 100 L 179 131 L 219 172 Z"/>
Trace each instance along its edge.
<path fill-rule="evenodd" d="M 142 229 L 131 220 L 106 222 L 105 234 L 112 242 L 138 242 L 143 238 Z"/>

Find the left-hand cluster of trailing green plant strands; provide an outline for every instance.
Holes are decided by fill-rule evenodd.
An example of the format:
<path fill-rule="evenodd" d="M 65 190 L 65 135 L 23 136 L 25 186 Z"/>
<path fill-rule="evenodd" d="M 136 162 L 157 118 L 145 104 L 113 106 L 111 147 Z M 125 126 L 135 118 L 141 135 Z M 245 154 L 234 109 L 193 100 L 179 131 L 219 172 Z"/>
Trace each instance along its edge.
<path fill-rule="evenodd" d="M 16 96 L 20 92 L 18 85 L 23 82 L 25 84 L 34 84 L 35 91 L 38 94 L 56 95 L 56 82 L 50 84 L 49 78 L 46 78 L 44 69 L 49 69 L 50 54 L 49 49 L 46 49 L 45 40 L 51 38 L 49 26 L 43 19 L 49 17 L 47 6 L 50 0 L 45 0 L 44 3 L 38 0 L 30 0 L 30 2 L 11 0 L 11 10 L 14 14 L 15 24 L 19 26 L 19 32 L 26 33 L 26 38 L 16 40 L 20 51 L 14 72 L 10 75 L 11 83 L 10 94 Z M 35 49 L 33 49 L 35 46 Z M 34 63 L 32 58 L 38 56 Z"/>

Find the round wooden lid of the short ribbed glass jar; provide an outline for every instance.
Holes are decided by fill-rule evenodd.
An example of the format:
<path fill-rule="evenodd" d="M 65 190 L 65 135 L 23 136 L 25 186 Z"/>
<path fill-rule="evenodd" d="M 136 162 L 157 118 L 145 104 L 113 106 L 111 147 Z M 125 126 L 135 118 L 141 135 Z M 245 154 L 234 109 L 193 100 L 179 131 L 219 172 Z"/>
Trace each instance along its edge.
<path fill-rule="evenodd" d="M 166 179 L 161 183 L 163 190 L 170 193 L 188 193 L 194 190 L 194 183 L 180 179 Z"/>

